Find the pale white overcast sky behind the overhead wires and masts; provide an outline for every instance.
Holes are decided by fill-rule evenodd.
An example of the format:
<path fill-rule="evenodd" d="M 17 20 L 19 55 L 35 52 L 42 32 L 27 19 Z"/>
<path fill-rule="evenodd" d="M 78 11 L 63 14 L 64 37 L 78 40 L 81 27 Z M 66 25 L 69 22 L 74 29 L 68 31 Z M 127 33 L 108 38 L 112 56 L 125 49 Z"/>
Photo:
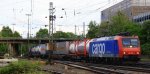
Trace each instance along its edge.
<path fill-rule="evenodd" d="M 18 31 L 23 38 L 28 33 L 28 16 L 30 34 L 42 28 L 47 28 L 49 16 L 49 2 L 53 2 L 56 20 L 54 31 L 64 31 L 77 34 L 83 33 L 83 22 L 86 25 L 91 20 L 101 22 L 101 11 L 122 0 L 0 0 L 0 30 L 3 26 L 9 26 L 13 31 Z M 62 10 L 62 8 L 64 10 Z M 63 18 L 60 18 L 63 16 Z M 15 24 L 15 25 L 14 25 Z"/>

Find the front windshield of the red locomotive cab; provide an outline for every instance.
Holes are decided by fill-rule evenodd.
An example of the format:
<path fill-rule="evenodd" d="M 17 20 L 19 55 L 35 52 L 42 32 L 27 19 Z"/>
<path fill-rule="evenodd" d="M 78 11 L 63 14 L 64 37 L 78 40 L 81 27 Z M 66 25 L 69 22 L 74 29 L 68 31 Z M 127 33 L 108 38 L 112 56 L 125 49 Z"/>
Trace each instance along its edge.
<path fill-rule="evenodd" d="M 124 47 L 138 47 L 138 39 L 136 38 L 123 38 L 122 44 Z"/>

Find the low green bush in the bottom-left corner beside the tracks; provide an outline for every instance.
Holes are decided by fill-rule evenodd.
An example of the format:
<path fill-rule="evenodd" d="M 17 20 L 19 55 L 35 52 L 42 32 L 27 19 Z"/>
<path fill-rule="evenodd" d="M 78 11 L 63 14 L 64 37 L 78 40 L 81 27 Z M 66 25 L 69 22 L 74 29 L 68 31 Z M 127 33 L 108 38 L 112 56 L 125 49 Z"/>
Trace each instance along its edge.
<path fill-rule="evenodd" d="M 32 74 L 37 69 L 39 69 L 38 62 L 19 61 L 0 68 L 0 74 Z"/>

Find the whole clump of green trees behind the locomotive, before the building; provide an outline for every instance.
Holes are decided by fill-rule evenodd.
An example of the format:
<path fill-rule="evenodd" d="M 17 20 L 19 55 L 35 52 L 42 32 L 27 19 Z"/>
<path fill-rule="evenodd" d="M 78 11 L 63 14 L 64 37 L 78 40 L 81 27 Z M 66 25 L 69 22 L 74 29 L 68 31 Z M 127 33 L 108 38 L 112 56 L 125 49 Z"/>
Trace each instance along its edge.
<path fill-rule="evenodd" d="M 102 22 L 97 25 L 96 22 L 89 23 L 88 38 L 111 36 L 121 32 L 130 32 L 131 35 L 140 35 L 140 25 L 130 21 L 122 12 L 118 12 L 110 21 Z"/>

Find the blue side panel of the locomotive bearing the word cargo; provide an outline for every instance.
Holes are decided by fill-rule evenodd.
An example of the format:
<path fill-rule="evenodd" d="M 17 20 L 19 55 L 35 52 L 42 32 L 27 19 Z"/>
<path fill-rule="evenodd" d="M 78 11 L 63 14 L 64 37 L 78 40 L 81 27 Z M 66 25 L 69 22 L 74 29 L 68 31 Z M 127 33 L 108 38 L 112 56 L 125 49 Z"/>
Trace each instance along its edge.
<path fill-rule="evenodd" d="M 117 40 L 95 41 L 90 43 L 89 57 L 118 57 Z"/>

